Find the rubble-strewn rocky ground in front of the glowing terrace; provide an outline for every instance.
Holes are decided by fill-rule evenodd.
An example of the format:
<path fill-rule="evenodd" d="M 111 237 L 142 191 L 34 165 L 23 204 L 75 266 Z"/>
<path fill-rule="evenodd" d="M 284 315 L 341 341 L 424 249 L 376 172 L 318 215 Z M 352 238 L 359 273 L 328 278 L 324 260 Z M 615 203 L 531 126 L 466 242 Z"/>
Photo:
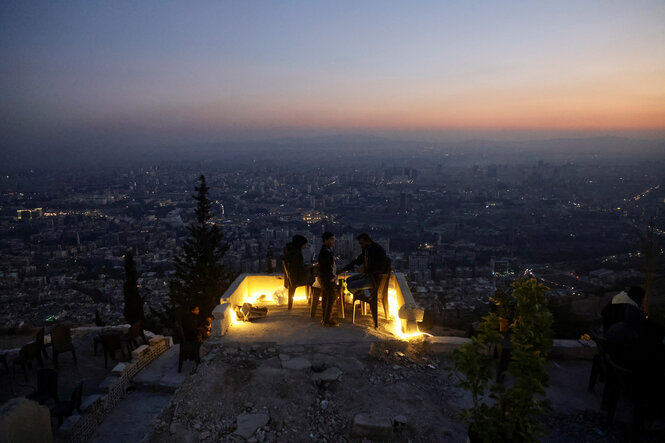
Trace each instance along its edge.
<path fill-rule="evenodd" d="M 462 441 L 446 364 L 415 342 L 217 347 L 149 441 Z"/>

